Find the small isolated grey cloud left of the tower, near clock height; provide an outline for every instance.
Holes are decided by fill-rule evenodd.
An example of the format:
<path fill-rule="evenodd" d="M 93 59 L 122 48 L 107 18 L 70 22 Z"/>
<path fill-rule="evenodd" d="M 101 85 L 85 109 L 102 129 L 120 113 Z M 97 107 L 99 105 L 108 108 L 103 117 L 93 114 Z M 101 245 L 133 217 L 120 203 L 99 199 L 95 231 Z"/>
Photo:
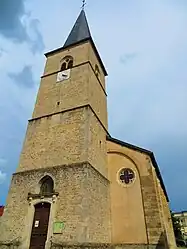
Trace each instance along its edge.
<path fill-rule="evenodd" d="M 25 66 L 21 72 L 9 73 L 8 76 L 20 87 L 32 88 L 35 85 L 31 66 Z"/>

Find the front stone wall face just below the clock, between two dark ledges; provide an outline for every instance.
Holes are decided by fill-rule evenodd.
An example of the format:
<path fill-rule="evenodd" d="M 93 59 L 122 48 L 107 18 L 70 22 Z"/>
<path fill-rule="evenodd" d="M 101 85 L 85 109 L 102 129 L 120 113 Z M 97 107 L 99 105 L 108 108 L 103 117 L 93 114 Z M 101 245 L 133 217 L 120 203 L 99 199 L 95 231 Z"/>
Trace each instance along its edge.
<path fill-rule="evenodd" d="M 88 63 L 74 67 L 62 82 L 56 82 L 57 73 L 42 77 L 33 118 L 88 104 L 88 70 Z"/>

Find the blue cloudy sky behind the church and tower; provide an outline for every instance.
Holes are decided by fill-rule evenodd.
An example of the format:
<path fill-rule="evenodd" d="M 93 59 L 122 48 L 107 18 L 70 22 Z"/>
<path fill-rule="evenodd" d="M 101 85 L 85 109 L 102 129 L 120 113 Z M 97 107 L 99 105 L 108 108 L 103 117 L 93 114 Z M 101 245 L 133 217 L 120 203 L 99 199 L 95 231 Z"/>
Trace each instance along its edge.
<path fill-rule="evenodd" d="M 0 204 L 19 162 L 44 53 L 64 44 L 80 9 L 81 0 L 1 0 Z M 187 210 L 187 1 L 87 0 L 85 9 L 109 74 L 110 134 L 153 151 L 171 209 Z"/>

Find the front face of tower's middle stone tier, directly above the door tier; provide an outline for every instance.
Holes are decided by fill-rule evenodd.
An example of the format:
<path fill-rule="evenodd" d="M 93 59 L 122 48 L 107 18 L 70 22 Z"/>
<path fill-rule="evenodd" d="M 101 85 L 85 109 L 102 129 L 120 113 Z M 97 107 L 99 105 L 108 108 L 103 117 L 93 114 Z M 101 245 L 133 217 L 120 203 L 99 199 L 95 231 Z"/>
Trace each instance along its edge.
<path fill-rule="evenodd" d="M 17 172 L 86 160 L 87 110 L 30 121 Z"/>

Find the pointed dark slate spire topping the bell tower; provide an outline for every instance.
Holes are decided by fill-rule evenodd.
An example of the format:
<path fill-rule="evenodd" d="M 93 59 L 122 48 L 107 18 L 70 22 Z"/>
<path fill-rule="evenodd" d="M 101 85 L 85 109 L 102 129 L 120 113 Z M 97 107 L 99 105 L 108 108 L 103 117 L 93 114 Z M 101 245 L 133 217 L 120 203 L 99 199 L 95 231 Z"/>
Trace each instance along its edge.
<path fill-rule="evenodd" d="M 89 39 L 92 40 L 85 11 L 83 8 L 64 44 L 64 48 Z"/>

